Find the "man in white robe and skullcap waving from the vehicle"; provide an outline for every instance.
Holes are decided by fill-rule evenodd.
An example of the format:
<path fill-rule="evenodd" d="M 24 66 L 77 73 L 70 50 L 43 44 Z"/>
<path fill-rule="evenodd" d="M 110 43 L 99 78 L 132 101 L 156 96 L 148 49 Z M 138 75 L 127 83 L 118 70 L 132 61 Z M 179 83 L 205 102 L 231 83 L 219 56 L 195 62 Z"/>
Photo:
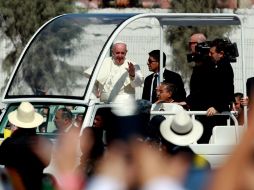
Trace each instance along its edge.
<path fill-rule="evenodd" d="M 126 54 L 126 43 L 116 41 L 112 47 L 112 57 L 104 60 L 94 91 L 101 101 L 112 102 L 117 96 L 123 99 L 135 98 L 135 87 L 143 84 L 144 77 L 140 67 L 126 59 Z M 86 74 L 89 74 L 88 72 L 88 70 L 85 71 Z"/>

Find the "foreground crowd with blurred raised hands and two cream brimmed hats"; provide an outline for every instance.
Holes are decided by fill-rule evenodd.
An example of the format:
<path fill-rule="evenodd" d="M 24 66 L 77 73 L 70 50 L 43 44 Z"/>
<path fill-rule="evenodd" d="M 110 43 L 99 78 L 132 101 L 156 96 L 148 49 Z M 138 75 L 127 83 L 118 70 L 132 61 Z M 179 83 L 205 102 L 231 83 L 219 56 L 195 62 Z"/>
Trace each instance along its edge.
<path fill-rule="evenodd" d="M 253 188 L 252 117 L 232 156 L 220 169 L 212 170 L 204 158 L 188 147 L 203 133 L 199 121 L 191 119 L 184 110 L 169 118 L 159 118 L 157 124 L 154 120 L 140 121 L 143 116 L 149 116 L 151 103 L 139 100 L 137 107 L 138 117 L 101 118 L 100 124 L 94 121 L 93 126 L 84 128 L 81 136 L 75 127 L 59 135 L 53 147 L 51 141 L 36 134 L 43 117 L 35 112 L 32 104 L 22 102 L 8 115 L 17 129 L 0 146 L 0 164 L 5 166 L 1 169 L 0 187 L 38 190 Z M 252 112 L 249 105 L 249 114 Z M 97 119 L 103 113 L 98 112 Z M 150 131 L 134 130 L 137 125 L 132 128 L 134 131 L 121 128 L 128 126 L 126 123 L 146 125 Z M 118 134 L 115 124 L 119 124 Z M 103 130 L 109 134 L 114 130 L 114 134 L 107 137 L 107 144 L 102 138 Z M 77 145 L 81 150 L 79 162 Z M 52 158 L 55 175 L 43 173 Z"/>

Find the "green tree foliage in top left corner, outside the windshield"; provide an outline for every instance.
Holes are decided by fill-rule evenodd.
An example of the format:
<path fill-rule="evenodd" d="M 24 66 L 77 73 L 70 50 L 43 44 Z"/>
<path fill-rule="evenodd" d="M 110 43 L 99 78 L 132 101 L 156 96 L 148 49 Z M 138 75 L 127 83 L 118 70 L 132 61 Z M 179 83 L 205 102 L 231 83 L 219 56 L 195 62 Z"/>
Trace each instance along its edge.
<path fill-rule="evenodd" d="M 3 61 L 4 70 L 10 71 L 28 40 L 42 24 L 73 9 L 73 0 L 0 1 L 0 30 L 14 46 Z"/>

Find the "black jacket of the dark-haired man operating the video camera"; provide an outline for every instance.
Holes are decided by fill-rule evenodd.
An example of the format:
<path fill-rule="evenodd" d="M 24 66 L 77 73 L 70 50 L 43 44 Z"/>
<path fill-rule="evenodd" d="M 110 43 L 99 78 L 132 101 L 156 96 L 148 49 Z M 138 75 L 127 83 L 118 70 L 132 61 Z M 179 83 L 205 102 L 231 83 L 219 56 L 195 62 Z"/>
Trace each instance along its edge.
<path fill-rule="evenodd" d="M 195 86 L 190 86 L 187 101 L 190 109 L 205 111 L 214 107 L 218 112 L 229 111 L 234 101 L 234 72 L 230 62 L 225 59 L 217 64 L 207 62 L 199 69 L 195 73 L 200 74 L 196 76 Z"/>

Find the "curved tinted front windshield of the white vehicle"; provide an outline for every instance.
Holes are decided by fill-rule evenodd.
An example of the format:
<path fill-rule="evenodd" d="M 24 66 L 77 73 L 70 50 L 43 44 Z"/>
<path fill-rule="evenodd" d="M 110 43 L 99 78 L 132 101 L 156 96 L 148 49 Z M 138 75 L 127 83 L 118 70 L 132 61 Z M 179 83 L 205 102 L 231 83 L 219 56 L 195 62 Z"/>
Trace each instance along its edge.
<path fill-rule="evenodd" d="M 84 98 L 90 77 L 83 71 L 95 67 L 108 37 L 130 16 L 68 14 L 52 19 L 24 49 L 5 98 Z"/>

